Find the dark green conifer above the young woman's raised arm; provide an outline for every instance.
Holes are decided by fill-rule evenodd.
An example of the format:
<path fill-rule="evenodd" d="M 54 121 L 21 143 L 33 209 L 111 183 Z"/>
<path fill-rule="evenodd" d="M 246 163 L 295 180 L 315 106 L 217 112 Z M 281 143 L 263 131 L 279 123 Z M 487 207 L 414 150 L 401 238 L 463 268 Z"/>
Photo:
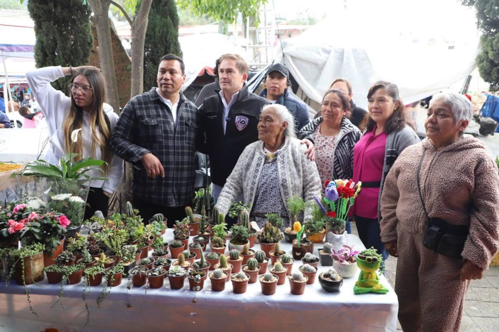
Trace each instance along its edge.
<path fill-rule="evenodd" d="M 81 0 L 29 0 L 29 15 L 34 21 L 36 67 L 81 66 L 88 63 L 93 37 L 90 6 Z M 67 92 L 69 76 L 53 86 Z"/>

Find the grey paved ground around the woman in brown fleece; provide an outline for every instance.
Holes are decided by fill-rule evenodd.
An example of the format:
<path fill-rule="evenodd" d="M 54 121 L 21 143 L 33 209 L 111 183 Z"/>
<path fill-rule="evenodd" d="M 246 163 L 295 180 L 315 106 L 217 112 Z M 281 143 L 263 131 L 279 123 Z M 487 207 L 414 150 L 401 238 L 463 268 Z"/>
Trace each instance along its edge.
<path fill-rule="evenodd" d="M 352 233 L 357 234 L 355 223 L 352 223 Z M 386 261 L 386 278 L 392 287 L 395 286 L 396 266 L 397 258 L 390 256 Z M 400 324 L 397 324 L 397 331 L 402 331 Z M 484 278 L 472 281 L 466 295 L 461 331 L 499 331 L 499 267 L 490 267 Z"/>

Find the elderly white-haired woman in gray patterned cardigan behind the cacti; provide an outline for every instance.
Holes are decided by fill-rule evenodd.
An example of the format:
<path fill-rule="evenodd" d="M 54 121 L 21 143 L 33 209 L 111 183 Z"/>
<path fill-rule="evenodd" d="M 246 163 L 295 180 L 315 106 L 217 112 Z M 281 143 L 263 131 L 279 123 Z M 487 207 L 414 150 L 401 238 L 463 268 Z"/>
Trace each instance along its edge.
<path fill-rule="evenodd" d="M 290 219 L 287 199 L 305 201 L 320 197 L 321 184 L 315 163 L 305 155 L 305 146 L 295 138 L 294 120 L 286 107 L 263 107 L 258 121 L 258 139 L 246 147 L 220 193 L 217 208 L 227 214 L 231 203 L 243 194 L 250 216 L 262 227 L 266 213 L 278 213 L 286 227 Z M 305 215 L 304 219 L 311 216 Z"/>

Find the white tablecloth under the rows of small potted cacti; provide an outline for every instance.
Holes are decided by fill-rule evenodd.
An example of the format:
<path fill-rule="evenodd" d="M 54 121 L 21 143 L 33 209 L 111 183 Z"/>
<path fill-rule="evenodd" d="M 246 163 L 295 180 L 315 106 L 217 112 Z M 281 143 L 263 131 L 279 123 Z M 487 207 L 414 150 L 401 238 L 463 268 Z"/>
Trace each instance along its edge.
<path fill-rule="evenodd" d="M 165 238 L 169 242 L 172 240 L 171 230 Z M 357 249 L 364 248 L 355 235 L 349 235 L 349 244 Z M 314 244 L 314 253 L 320 247 L 320 244 Z M 258 248 L 256 244 L 253 249 Z M 288 243 L 282 242 L 281 248 L 291 253 Z M 293 271 L 299 265 L 301 262 L 295 261 Z M 327 268 L 319 264 L 318 274 Z M 261 294 L 258 281 L 248 285 L 245 294 L 234 294 L 231 282 L 226 284 L 225 291 L 212 292 L 209 279 L 202 291 L 193 292 L 189 290 L 187 280 L 183 289 L 171 290 L 167 278 L 163 288 L 148 289 L 147 294 L 145 287 L 132 287 L 127 293 L 125 282 L 122 282 L 121 286 L 112 288 L 101 308 L 97 308 L 95 300 L 102 286 L 91 287 L 87 297 L 90 323 L 84 331 L 147 331 L 150 328 L 198 332 L 395 331 L 398 301 L 386 279 L 380 278 L 390 290 L 387 294 L 354 295 L 356 279 L 357 276 L 344 279 L 339 293 L 324 292 L 316 279 L 314 284 L 306 286 L 301 296 L 289 292 L 288 281 L 277 286 L 272 296 Z M 81 330 L 86 322 L 82 283 L 65 285 L 64 307 L 50 308 L 57 300 L 59 286 L 46 281 L 28 286 L 32 306 L 39 316 L 37 320 L 28 309 L 22 286 L 0 285 L 0 331 L 31 332 L 50 327 L 59 332 Z M 125 306 L 127 297 L 131 308 Z"/>

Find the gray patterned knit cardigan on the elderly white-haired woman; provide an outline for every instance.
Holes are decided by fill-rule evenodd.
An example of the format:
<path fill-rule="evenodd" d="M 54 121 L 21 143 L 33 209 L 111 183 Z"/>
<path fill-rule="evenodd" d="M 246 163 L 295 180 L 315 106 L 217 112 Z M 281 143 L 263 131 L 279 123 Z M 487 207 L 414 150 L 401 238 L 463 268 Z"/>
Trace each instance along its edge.
<path fill-rule="evenodd" d="M 305 145 L 300 144 L 299 140 L 289 137 L 277 150 L 277 176 L 281 198 L 289 217 L 289 197 L 298 196 L 307 201 L 313 199 L 313 196 L 320 197 L 321 194 L 322 186 L 317 166 L 315 162 L 308 160 L 305 150 Z M 216 205 L 220 213 L 227 214 L 231 203 L 241 193 L 243 203 L 252 206 L 264 162 L 263 142 L 256 141 L 246 147 L 220 193 Z M 309 218 L 311 215 L 306 212 L 304 219 Z"/>

